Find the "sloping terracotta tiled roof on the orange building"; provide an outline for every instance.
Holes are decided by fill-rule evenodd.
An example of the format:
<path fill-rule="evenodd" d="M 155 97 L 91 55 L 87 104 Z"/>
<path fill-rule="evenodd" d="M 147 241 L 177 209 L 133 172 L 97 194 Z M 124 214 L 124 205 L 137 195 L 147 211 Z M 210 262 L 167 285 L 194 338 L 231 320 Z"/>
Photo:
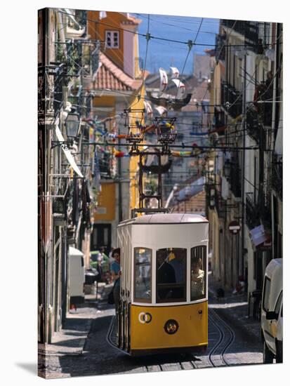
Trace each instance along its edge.
<path fill-rule="evenodd" d="M 125 72 L 117 67 L 112 60 L 107 58 L 104 53 L 100 52 L 99 60 L 101 66 L 93 82 L 93 88 L 95 90 L 110 88 L 110 90 L 113 91 L 134 91 L 140 88 L 142 80 L 133 79 L 131 76 L 125 74 Z"/>

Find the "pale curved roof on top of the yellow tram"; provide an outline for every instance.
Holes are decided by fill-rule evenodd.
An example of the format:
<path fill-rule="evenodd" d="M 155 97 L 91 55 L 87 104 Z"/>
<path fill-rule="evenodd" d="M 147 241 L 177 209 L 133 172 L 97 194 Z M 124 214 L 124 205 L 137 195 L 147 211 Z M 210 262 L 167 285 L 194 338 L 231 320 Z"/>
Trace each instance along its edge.
<path fill-rule="evenodd" d="M 184 224 L 184 223 L 197 223 L 197 222 L 209 222 L 202 215 L 196 215 L 194 213 L 154 213 L 150 215 L 141 215 L 130 220 L 125 220 L 119 223 L 119 225 L 129 224 Z"/>

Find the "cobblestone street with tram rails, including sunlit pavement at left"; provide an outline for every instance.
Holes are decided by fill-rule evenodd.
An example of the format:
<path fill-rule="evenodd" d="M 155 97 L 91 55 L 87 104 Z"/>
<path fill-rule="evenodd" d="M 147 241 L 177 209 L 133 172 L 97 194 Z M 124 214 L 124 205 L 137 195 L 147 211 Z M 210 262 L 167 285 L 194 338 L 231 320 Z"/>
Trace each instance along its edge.
<path fill-rule="evenodd" d="M 263 347 L 259 337 L 260 326 L 258 321 L 247 317 L 245 295 L 225 293 L 225 298 L 218 300 L 215 296 L 217 287 L 218 283 L 210 275 L 209 347 L 206 354 L 159 354 L 132 358 L 112 347 L 107 341 L 114 317 L 114 307 L 107 304 L 111 286 L 102 286 L 98 310 L 94 296 L 90 295 L 87 296 L 86 307 L 71 312 L 64 331 L 48 346 L 45 361 L 41 355 L 39 373 L 44 375 L 45 372 L 46 378 L 67 378 L 261 364 Z M 217 320 L 218 317 L 226 323 L 224 342 L 230 339 L 230 335 L 234 337 L 225 352 L 223 347 L 213 350 L 220 334 L 218 329 L 221 322 Z"/>

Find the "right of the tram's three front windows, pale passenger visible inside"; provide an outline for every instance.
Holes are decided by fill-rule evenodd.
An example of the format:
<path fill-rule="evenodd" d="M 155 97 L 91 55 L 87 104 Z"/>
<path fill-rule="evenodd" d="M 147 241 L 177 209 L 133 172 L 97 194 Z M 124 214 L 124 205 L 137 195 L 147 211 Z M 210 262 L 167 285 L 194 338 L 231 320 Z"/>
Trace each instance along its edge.
<path fill-rule="evenodd" d="M 206 246 L 195 246 L 190 250 L 190 300 L 205 296 Z"/>

